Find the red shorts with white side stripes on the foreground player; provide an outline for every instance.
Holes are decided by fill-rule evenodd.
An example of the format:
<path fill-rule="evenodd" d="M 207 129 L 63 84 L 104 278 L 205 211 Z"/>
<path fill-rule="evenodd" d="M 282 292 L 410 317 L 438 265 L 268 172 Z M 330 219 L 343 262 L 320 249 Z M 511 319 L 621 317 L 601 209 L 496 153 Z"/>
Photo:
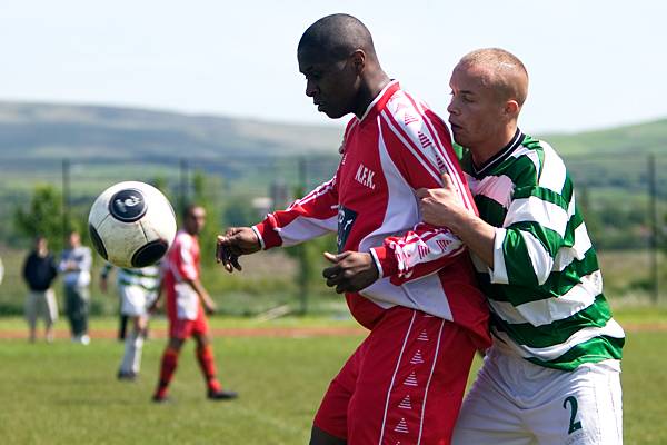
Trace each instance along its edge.
<path fill-rule="evenodd" d="M 315 425 L 349 444 L 449 444 L 476 347 L 458 325 L 388 309 L 331 382 Z"/>

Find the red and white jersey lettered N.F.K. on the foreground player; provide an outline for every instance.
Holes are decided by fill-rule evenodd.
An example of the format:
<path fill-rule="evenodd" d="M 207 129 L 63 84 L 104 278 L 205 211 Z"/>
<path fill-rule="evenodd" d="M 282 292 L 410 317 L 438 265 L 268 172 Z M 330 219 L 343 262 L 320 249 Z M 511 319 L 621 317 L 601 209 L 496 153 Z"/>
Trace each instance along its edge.
<path fill-rule="evenodd" d="M 464 245 L 447 228 L 420 222 L 415 191 L 441 187 L 444 171 L 477 212 L 447 127 L 392 81 L 349 121 L 334 178 L 253 229 L 265 249 L 338 231 L 339 251 L 369 251 L 380 279 L 346 295 L 361 325 L 371 328 L 400 305 L 460 324 L 484 346 L 488 309 Z"/>

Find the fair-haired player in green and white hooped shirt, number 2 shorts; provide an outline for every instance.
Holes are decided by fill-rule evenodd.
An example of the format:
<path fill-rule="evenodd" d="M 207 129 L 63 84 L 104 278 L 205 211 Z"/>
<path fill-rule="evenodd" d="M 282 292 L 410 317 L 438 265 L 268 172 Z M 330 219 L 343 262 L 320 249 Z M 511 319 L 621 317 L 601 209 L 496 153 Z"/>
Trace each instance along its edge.
<path fill-rule="evenodd" d="M 620 444 L 624 330 L 563 160 L 517 127 L 526 68 L 481 49 L 459 61 L 450 87 L 449 123 L 479 217 L 447 177 L 418 196 L 424 220 L 474 254 L 494 334 L 454 443 Z"/>

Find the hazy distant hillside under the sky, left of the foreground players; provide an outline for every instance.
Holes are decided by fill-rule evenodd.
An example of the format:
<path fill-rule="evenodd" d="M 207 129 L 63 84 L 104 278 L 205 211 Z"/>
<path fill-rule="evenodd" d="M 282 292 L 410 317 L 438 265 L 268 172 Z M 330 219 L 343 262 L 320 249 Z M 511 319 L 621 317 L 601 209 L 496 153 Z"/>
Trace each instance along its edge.
<path fill-rule="evenodd" d="M 336 152 L 340 128 L 113 107 L 0 102 L 0 157 L 207 158 Z"/>

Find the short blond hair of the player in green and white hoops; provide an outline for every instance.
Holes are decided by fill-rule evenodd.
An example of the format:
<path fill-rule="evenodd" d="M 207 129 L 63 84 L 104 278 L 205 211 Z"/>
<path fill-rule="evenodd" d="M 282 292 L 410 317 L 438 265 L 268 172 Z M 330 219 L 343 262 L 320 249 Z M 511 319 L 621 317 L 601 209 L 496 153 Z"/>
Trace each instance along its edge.
<path fill-rule="evenodd" d="M 496 91 L 499 100 L 516 100 L 519 107 L 528 96 L 528 71 L 511 52 L 500 48 L 482 48 L 467 53 L 460 67 L 478 71 L 482 82 Z"/>

